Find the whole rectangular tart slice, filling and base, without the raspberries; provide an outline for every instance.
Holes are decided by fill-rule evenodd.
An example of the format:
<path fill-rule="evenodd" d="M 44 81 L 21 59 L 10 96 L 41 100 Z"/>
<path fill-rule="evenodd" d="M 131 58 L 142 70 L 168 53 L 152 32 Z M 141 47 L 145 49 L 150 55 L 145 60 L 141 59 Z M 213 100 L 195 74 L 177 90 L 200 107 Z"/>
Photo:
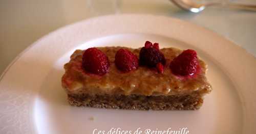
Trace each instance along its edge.
<path fill-rule="evenodd" d="M 206 64 L 199 58 L 199 69 L 193 76 L 180 77 L 169 69 L 170 62 L 182 52 L 180 49 L 160 49 L 166 58 L 163 73 L 145 66 L 124 73 L 114 62 L 120 48 L 139 57 L 140 48 L 98 47 L 110 62 L 109 72 L 104 75 L 90 74 L 82 68 L 84 50 L 73 53 L 62 76 L 62 87 L 71 105 L 128 110 L 197 110 L 203 104 L 203 96 L 211 91 L 205 76 Z"/>

